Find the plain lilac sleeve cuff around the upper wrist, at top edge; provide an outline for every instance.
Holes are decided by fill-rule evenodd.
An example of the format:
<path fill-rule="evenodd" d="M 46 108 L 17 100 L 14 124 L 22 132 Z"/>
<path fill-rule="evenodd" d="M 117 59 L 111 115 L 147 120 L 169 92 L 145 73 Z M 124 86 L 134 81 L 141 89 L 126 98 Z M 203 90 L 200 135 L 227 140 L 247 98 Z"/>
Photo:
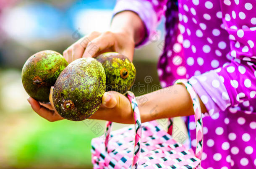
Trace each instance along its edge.
<path fill-rule="evenodd" d="M 136 13 L 144 23 L 146 28 L 145 38 L 138 44 L 136 48 L 149 43 L 149 37 L 152 35 L 157 27 L 157 14 L 154 11 L 152 4 L 146 0 L 118 0 L 112 18 L 117 14 L 125 10 L 130 10 Z"/>

